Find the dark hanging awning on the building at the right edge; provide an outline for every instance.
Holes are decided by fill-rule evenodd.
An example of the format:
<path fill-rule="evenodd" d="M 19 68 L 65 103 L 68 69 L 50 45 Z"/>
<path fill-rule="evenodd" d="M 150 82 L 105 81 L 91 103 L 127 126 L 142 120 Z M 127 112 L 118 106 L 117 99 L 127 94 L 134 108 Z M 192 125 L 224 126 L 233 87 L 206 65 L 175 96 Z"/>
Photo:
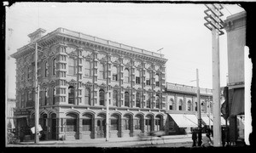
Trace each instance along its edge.
<path fill-rule="evenodd" d="M 244 88 L 235 88 L 230 116 L 244 114 Z"/>

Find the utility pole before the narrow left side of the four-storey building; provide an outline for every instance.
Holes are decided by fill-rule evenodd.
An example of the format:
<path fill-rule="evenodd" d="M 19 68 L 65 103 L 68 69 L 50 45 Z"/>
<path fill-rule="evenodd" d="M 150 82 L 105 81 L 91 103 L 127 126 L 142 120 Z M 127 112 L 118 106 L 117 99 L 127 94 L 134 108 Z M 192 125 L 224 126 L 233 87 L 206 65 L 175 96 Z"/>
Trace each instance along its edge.
<path fill-rule="evenodd" d="M 38 115 L 39 115 L 39 105 L 38 105 L 38 98 L 39 98 L 39 86 L 38 86 L 38 42 L 36 42 L 35 48 L 35 144 L 38 144 L 39 137 L 38 137 Z"/>

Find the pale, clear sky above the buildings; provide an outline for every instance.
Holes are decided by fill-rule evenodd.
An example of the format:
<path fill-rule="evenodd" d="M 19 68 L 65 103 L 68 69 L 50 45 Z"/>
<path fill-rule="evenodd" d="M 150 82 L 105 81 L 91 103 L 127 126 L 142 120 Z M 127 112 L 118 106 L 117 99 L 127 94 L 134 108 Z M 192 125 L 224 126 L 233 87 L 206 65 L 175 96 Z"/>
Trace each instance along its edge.
<path fill-rule="evenodd" d="M 6 77 L 15 98 L 15 59 L 38 28 L 59 27 L 164 54 L 166 82 L 212 88 L 212 32 L 204 26 L 203 4 L 195 3 L 15 3 L 6 10 Z M 244 9 L 224 4 L 223 20 Z M 9 31 L 9 29 L 11 29 Z M 158 52 L 160 48 L 163 48 Z M 226 32 L 219 37 L 220 86 L 227 84 Z"/>

